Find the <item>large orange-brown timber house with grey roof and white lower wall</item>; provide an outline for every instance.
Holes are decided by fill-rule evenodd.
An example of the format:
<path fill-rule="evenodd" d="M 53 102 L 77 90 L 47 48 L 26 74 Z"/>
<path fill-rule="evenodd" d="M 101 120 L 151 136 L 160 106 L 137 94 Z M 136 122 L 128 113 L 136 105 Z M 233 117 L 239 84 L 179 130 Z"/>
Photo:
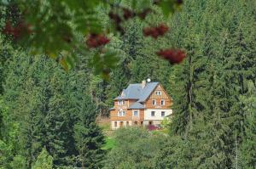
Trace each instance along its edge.
<path fill-rule="evenodd" d="M 172 99 L 160 82 L 130 84 L 114 99 L 110 109 L 111 128 L 160 125 L 172 114 Z"/>

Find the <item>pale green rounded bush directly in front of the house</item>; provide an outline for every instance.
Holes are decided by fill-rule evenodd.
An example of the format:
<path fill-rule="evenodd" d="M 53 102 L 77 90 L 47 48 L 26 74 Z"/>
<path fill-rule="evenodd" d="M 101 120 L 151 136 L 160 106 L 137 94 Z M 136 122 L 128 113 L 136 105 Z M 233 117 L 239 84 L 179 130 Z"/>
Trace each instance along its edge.
<path fill-rule="evenodd" d="M 154 168 L 154 158 L 167 138 L 152 136 L 143 128 L 129 127 L 119 129 L 115 140 L 116 146 L 108 153 L 105 168 Z"/>

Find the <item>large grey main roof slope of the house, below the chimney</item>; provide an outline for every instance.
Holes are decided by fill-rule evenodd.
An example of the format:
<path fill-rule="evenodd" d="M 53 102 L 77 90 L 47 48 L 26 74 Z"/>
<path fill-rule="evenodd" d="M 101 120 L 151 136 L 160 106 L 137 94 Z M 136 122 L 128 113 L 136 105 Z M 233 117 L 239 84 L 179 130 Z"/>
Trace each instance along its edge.
<path fill-rule="evenodd" d="M 147 82 L 144 88 L 141 83 L 130 84 L 123 90 L 122 94 L 115 99 L 138 99 L 137 102 L 144 102 L 158 84 L 159 82 Z"/>

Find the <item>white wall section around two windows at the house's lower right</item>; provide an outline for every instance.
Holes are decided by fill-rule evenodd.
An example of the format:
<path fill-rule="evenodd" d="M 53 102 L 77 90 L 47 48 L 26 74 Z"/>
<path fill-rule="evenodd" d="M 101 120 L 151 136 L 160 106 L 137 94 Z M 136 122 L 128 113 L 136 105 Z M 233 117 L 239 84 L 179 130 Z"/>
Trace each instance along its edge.
<path fill-rule="evenodd" d="M 151 111 L 154 111 L 154 116 L 151 116 Z M 162 121 L 164 120 L 165 116 L 161 116 L 161 111 L 165 111 L 165 116 L 171 115 L 172 110 L 154 110 L 154 109 L 147 109 L 144 110 L 144 120 L 145 121 Z"/>

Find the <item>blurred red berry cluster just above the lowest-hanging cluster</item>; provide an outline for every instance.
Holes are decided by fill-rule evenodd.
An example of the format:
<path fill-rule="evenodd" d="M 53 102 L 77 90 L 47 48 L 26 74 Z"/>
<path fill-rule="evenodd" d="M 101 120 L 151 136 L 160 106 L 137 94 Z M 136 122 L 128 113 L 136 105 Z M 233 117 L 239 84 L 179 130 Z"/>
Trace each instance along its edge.
<path fill-rule="evenodd" d="M 166 31 L 169 30 L 169 27 L 164 24 L 160 24 L 156 27 L 146 27 L 143 29 L 143 34 L 145 37 L 154 37 L 155 39 L 159 36 L 163 36 Z"/>

